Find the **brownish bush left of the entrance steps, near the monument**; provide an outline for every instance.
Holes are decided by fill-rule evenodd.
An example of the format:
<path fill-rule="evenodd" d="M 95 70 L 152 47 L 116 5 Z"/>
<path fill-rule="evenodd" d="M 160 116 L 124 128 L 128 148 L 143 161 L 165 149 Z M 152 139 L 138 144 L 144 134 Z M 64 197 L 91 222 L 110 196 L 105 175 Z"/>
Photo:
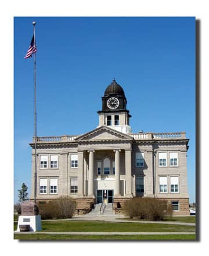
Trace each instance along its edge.
<path fill-rule="evenodd" d="M 68 196 L 62 196 L 46 204 L 38 204 L 41 219 L 67 219 L 72 218 L 76 202 Z"/>

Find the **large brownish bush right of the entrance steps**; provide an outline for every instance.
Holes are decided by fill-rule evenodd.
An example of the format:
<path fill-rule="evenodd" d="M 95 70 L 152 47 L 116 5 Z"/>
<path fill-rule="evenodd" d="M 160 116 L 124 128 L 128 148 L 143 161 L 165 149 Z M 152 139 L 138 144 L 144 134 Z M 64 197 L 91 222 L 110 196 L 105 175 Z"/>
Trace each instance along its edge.
<path fill-rule="evenodd" d="M 167 200 L 134 197 L 125 202 L 123 212 L 130 218 L 161 221 L 165 215 L 171 215 L 171 205 Z"/>

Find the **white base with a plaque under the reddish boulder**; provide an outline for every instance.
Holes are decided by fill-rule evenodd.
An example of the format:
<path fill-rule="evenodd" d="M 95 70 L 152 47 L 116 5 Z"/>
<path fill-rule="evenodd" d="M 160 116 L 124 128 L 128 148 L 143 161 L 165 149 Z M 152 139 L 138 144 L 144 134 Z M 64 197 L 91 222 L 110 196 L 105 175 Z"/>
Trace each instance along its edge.
<path fill-rule="evenodd" d="M 20 215 L 17 223 L 17 232 L 20 232 L 19 225 L 30 225 L 29 231 L 40 231 L 41 227 L 41 215 Z"/>

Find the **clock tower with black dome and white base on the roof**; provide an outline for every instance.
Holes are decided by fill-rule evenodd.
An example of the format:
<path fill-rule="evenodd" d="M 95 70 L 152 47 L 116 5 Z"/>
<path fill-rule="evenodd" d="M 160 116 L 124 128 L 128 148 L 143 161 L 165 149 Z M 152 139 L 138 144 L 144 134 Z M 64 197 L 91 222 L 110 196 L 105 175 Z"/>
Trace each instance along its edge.
<path fill-rule="evenodd" d="M 99 126 L 105 125 L 122 133 L 131 133 L 129 126 L 131 115 L 129 115 L 126 106 L 127 99 L 124 90 L 113 79 L 102 97 L 102 111 L 98 111 Z"/>

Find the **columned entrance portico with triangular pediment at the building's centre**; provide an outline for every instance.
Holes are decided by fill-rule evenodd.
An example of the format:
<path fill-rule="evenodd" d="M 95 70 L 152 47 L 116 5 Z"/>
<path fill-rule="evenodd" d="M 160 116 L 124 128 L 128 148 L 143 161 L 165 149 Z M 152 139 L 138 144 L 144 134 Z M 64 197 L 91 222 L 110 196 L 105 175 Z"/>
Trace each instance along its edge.
<path fill-rule="evenodd" d="M 131 136 L 102 126 L 75 138 L 75 141 L 78 141 L 78 166 L 82 180 L 78 196 L 95 198 L 96 202 L 105 196 L 109 201 L 121 197 L 121 194 L 131 196 Z"/>

